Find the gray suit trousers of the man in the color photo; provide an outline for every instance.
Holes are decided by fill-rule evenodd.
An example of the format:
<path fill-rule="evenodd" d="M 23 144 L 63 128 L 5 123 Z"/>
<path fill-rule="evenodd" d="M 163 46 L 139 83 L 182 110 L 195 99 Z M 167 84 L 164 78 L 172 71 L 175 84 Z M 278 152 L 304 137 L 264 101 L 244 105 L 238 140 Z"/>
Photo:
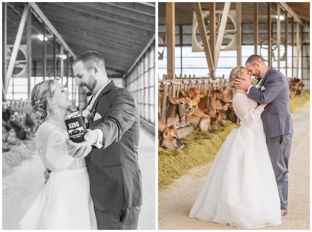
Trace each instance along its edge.
<path fill-rule="evenodd" d="M 288 160 L 290 157 L 292 133 L 266 138 L 275 180 L 280 195 L 280 209 L 287 209 Z"/>

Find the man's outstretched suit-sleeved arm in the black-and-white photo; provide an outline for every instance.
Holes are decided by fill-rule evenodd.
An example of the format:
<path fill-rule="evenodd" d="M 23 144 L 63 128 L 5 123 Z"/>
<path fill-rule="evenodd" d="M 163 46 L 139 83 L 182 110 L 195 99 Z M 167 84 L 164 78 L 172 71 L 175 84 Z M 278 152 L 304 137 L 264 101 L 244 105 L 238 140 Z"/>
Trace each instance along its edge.
<path fill-rule="evenodd" d="M 103 123 L 93 129 L 103 132 L 103 147 L 121 139 L 135 121 L 135 101 L 127 89 L 118 88 L 109 99 L 110 106 Z"/>

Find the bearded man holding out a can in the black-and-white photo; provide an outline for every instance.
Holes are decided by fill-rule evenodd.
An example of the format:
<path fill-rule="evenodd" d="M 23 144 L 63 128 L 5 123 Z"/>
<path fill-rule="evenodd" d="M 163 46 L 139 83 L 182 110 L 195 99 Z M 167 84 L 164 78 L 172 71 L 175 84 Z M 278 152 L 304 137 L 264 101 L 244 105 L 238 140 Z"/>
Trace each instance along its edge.
<path fill-rule="evenodd" d="M 77 86 L 92 98 L 83 108 L 85 141 L 69 140 L 67 149 L 74 158 L 85 156 L 98 230 L 136 230 L 142 205 L 138 104 L 108 79 L 99 53 L 82 53 L 72 67 Z"/>

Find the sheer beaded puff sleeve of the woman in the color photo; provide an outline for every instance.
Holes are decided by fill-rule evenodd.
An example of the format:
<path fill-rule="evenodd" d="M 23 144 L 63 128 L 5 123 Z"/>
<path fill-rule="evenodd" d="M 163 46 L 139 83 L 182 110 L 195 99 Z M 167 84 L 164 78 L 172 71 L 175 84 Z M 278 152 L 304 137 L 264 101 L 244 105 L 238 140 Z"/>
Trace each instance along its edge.
<path fill-rule="evenodd" d="M 256 109 L 249 106 L 248 97 L 244 94 L 236 94 L 233 98 L 233 108 L 236 116 L 247 126 L 261 119 L 261 113 L 264 109 L 258 106 Z"/>

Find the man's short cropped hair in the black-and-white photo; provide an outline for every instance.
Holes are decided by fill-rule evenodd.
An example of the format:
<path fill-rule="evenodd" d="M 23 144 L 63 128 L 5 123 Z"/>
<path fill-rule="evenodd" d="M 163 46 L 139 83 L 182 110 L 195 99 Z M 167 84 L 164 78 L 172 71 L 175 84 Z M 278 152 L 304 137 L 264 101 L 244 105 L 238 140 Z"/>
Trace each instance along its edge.
<path fill-rule="evenodd" d="M 74 61 L 72 67 L 76 64 L 76 62 L 80 61 L 83 63 L 85 70 L 88 72 L 95 64 L 106 72 L 104 58 L 98 52 L 87 51 L 80 54 Z"/>

